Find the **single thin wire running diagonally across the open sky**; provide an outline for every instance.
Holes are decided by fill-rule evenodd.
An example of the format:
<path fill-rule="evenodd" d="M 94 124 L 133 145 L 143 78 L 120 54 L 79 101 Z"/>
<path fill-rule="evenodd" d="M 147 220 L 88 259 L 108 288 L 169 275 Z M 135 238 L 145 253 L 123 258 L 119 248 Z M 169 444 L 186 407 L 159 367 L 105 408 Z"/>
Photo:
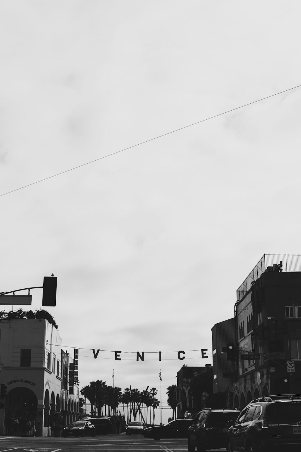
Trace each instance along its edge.
<path fill-rule="evenodd" d="M 248 105 L 256 104 L 257 102 L 261 102 L 262 100 L 269 99 L 270 97 L 278 96 L 278 94 L 287 93 L 287 91 L 291 91 L 292 89 L 296 89 L 296 88 L 300 88 L 300 87 L 301 87 L 301 85 L 297 85 L 297 86 L 294 86 L 293 88 L 288 88 L 288 89 L 285 89 L 284 91 L 279 91 L 279 93 L 271 94 L 270 96 L 266 96 L 261 99 L 253 100 L 253 102 L 249 102 L 248 104 L 241 105 L 240 107 L 232 108 L 231 110 L 227 110 L 225 112 L 218 113 L 216 115 L 210 116 L 209 118 L 201 119 L 200 121 L 193 122 L 192 124 L 189 124 L 188 126 L 180 127 L 178 129 L 172 130 L 171 132 L 163 133 L 162 135 L 158 135 L 157 137 L 150 138 L 149 140 L 141 141 L 140 143 L 134 144 L 129 147 L 125 147 L 124 149 L 120 149 L 120 151 L 116 151 L 116 152 L 112 152 L 111 154 L 103 155 L 102 157 L 99 157 L 98 159 L 91 160 L 90 162 L 83 163 L 82 165 L 74 166 L 74 168 L 69 168 L 69 170 L 61 171 L 60 173 L 53 174 L 52 176 L 48 176 L 48 177 L 45 177 L 44 179 L 37 180 L 36 182 L 32 182 L 31 184 L 23 185 L 23 187 L 15 188 L 14 190 L 11 190 L 9 192 L 2 193 L 0 196 L 5 196 L 5 195 L 8 195 L 9 193 L 13 193 L 18 190 L 22 190 L 23 188 L 30 187 L 31 185 L 39 184 L 40 182 L 43 182 L 44 180 L 48 180 L 53 177 L 60 176 L 61 174 L 68 173 L 69 171 L 77 170 L 78 168 L 81 168 L 85 165 L 90 165 L 91 163 L 95 163 L 98 160 L 102 160 L 107 157 L 111 157 L 112 155 L 119 154 L 120 152 L 123 152 L 123 151 L 128 151 L 129 149 L 132 149 L 133 147 L 141 146 L 142 144 L 149 143 L 150 141 L 153 141 L 153 140 L 157 140 L 158 138 L 166 137 L 167 135 L 170 135 L 171 133 L 179 132 L 180 130 L 184 130 L 184 129 L 187 129 L 188 127 L 195 126 L 196 124 L 200 124 L 201 122 L 209 121 L 209 119 L 218 118 L 218 116 L 222 116 L 223 114 L 231 113 L 235 110 L 238 110 L 239 108 L 244 108 L 244 107 L 247 107 Z"/>

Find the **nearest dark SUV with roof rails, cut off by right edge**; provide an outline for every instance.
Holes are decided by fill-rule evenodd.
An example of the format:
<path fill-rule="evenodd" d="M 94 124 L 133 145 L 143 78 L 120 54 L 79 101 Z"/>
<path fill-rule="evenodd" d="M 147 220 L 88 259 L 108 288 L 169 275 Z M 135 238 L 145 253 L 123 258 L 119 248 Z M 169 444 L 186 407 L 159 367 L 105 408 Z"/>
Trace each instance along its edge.
<path fill-rule="evenodd" d="M 301 450 L 301 395 L 269 395 L 249 403 L 229 428 L 227 451 Z"/>

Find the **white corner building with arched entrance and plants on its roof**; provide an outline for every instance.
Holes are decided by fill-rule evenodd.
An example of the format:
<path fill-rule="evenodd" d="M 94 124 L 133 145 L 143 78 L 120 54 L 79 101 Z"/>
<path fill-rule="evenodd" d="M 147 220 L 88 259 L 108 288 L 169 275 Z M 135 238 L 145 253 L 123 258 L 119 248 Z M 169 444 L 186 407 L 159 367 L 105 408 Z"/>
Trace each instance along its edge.
<path fill-rule="evenodd" d="M 69 395 L 68 367 L 73 360 L 61 349 L 56 327 L 46 319 L 0 321 L 0 382 L 6 386 L 0 410 L 5 419 L 35 419 L 37 436 L 51 434 L 51 419 L 61 412 L 65 423 L 78 419 L 79 388 Z"/>

